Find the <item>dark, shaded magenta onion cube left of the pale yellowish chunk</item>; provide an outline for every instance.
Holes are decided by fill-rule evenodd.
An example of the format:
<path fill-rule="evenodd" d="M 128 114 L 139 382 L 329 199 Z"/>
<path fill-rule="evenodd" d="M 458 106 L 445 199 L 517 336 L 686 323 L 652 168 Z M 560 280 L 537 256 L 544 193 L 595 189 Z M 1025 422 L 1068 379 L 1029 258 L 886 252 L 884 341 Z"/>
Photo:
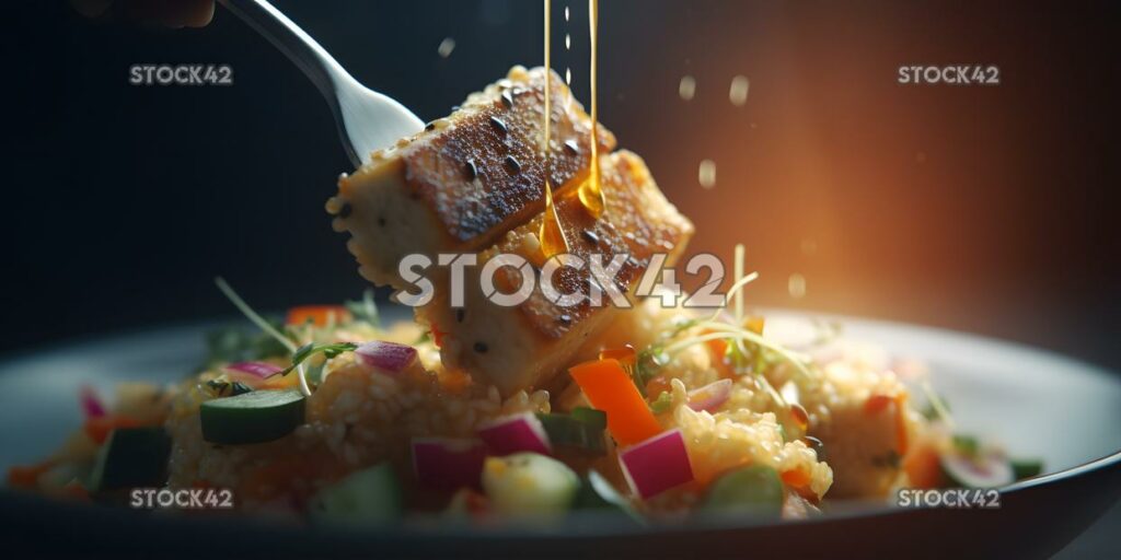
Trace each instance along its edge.
<path fill-rule="evenodd" d="M 487 446 L 475 439 L 413 440 L 413 470 L 420 485 L 429 488 L 479 488 L 485 459 Z"/>

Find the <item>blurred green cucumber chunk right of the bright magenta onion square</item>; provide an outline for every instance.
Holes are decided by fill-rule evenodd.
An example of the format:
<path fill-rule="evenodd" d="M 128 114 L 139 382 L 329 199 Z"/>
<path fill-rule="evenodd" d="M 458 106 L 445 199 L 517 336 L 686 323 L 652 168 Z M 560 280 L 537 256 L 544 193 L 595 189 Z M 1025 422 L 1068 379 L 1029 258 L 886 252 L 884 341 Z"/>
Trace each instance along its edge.
<path fill-rule="evenodd" d="M 702 508 L 753 517 L 777 519 L 782 514 L 782 478 L 765 465 L 751 465 L 724 474 L 708 486 Z"/>

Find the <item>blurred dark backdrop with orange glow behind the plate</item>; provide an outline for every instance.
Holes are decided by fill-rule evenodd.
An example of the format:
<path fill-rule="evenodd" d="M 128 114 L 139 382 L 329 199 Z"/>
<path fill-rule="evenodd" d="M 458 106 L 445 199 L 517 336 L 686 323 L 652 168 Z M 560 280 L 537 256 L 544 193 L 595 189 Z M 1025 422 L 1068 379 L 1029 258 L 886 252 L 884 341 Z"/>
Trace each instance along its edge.
<path fill-rule="evenodd" d="M 538 1 L 276 3 L 425 120 L 541 60 Z M 572 66 L 586 102 L 584 3 L 571 54 L 554 3 L 554 66 Z M 601 119 L 697 223 L 691 249 L 747 244 L 762 274 L 750 301 L 1121 367 L 1106 2 L 602 3 Z M 229 316 L 216 274 L 261 309 L 361 292 L 323 211 L 350 164 L 318 92 L 262 38 L 221 8 L 178 30 L 62 2 L 6 9 L 0 349 Z M 229 64 L 234 85 L 132 86 L 138 63 Z M 995 64 L 1002 83 L 904 86 L 902 64 Z M 742 108 L 736 74 L 751 81 Z M 787 293 L 793 273 L 806 297 Z"/>

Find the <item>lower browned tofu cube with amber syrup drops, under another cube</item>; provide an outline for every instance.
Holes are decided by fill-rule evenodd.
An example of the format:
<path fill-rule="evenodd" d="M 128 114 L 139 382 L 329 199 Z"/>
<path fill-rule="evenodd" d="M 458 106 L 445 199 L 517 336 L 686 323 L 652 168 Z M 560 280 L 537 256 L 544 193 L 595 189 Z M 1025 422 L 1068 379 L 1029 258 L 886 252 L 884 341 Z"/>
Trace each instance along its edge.
<path fill-rule="evenodd" d="M 604 261 L 613 254 L 629 259 L 615 276 L 623 292 L 631 292 L 656 253 L 667 255 L 673 264 L 684 252 L 693 234 L 693 224 L 678 214 L 661 192 L 642 159 L 628 151 L 602 156 L 601 187 L 605 211 L 595 220 L 583 207 L 574 188 L 556 199 L 560 225 L 569 244 L 569 254 L 585 260 L 601 253 Z M 447 269 L 436 269 L 433 300 L 417 310 L 417 319 L 439 334 L 441 357 L 448 367 L 458 367 L 474 379 L 489 382 L 503 394 L 541 386 L 569 363 L 590 338 L 595 337 L 620 309 L 604 296 L 604 306 L 592 307 L 586 298 L 578 305 L 560 307 L 547 299 L 540 283 L 527 301 L 502 307 L 483 296 L 480 271 L 490 259 L 502 253 L 522 256 L 539 271 L 544 263 L 537 233 L 544 213 L 511 230 L 498 243 L 478 255 L 478 267 L 464 274 L 465 305 L 453 308 Z M 587 295 L 591 272 L 559 269 L 555 284 L 562 293 Z M 501 291 L 520 286 L 520 274 L 510 268 L 495 273 Z"/>

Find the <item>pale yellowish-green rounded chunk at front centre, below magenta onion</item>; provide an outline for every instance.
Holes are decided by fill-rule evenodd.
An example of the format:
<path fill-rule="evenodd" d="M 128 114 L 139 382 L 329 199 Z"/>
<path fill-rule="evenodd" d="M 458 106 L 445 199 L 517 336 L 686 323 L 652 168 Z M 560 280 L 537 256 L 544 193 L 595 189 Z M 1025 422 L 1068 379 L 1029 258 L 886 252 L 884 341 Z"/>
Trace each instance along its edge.
<path fill-rule="evenodd" d="M 544 455 L 488 457 L 483 466 L 483 491 L 501 514 L 560 516 L 572 507 L 577 489 L 576 473 Z"/>

